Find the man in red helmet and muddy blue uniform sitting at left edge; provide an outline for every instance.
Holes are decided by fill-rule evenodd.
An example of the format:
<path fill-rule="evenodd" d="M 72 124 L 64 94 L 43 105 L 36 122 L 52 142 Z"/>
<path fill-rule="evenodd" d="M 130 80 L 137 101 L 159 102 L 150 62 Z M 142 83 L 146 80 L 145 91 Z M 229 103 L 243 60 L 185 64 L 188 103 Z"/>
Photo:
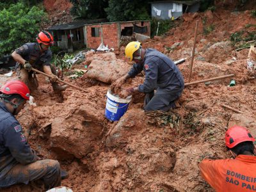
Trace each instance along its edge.
<path fill-rule="evenodd" d="M 14 116 L 26 100 L 29 89 L 22 81 L 9 81 L 0 90 L 0 188 L 33 180 L 42 180 L 45 189 L 60 186 L 60 163 L 36 156 Z"/>

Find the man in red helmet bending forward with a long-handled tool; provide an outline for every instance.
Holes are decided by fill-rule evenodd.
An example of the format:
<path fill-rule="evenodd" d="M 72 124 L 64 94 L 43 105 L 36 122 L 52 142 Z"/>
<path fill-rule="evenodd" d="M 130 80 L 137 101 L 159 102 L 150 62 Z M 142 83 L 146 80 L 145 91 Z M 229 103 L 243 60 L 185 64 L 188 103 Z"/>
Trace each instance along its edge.
<path fill-rule="evenodd" d="M 29 82 L 33 83 L 31 68 L 36 68 L 45 74 L 51 76 L 50 81 L 52 88 L 56 92 L 63 91 L 67 86 L 59 86 L 56 81 L 56 68 L 51 65 L 52 52 L 49 47 L 54 44 L 51 33 L 41 31 L 36 43 L 24 44 L 12 52 L 12 57 L 17 61 L 16 72 L 20 81 L 23 81 L 29 86 Z M 30 86 L 31 87 L 31 86 Z"/>

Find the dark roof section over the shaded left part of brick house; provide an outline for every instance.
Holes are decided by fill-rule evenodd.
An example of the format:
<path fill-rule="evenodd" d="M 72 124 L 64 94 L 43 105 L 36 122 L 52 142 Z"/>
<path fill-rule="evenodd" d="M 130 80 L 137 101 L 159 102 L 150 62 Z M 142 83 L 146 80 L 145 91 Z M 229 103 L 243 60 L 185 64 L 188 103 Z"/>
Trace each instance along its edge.
<path fill-rule="evenodd" d="M 106 22 L 106 19 L 76 20 L 74 22 L 69 22 L 69 23 L 62 24 L 62 25 L 52 26 L 51 28 L 48 28 L 48 29 L 49 30 L 76 29 L 76 28 L 81 28 L 82 26 L 84 26 L 86 24 L 93 24 L 95 22 Z"/>

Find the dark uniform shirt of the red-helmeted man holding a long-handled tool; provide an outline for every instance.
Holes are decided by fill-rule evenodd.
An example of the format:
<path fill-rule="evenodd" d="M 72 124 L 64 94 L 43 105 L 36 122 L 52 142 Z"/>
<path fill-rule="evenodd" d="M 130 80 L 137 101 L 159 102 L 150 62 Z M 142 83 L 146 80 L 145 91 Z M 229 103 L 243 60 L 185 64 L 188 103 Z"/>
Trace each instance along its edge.
<path fill-rule="evenodd" d="M 15 50 L 17 54 L 22 56 L 24 60 L 29 61 L 32 67 L 42 70 L 44 65 L 51 65 L 52 52 L 47 49 L 45 52 L 40 52 L 38 43 L 24 44 Z"/>

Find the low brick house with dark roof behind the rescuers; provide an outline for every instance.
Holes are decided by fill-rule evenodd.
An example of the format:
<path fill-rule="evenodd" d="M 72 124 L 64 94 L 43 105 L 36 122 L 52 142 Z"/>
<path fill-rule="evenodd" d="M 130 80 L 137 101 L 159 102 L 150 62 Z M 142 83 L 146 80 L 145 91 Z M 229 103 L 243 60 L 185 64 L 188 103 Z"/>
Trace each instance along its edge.
<path fill-rule="evenodd" d="M 68 50 L 68 52 L 83 47 L 97 49 L 100 44 L 118 49 L 122 36 L 132 36 L 134 33 L 150 36 L 150 21 L 99 22 L 99 20 L 82 20 L 52 26 L 48 30 L 54 36 L 56 45 L 61 50 Z"/>

